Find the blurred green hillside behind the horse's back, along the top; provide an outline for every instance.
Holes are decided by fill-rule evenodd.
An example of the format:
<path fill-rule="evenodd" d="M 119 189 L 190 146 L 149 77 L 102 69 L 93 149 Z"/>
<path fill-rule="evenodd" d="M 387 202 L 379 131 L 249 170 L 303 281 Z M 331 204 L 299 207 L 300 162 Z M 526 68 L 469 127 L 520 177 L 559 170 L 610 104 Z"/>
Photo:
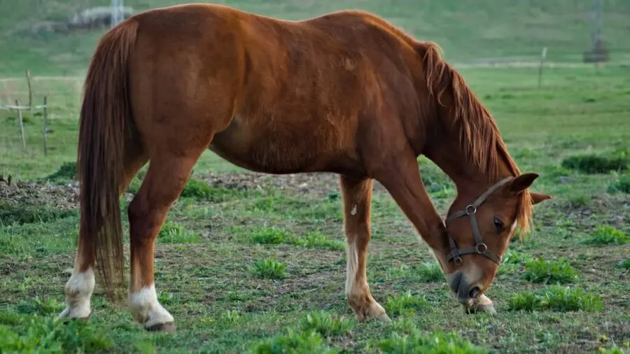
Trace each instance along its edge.
<path fill-rule="evenodd" d="M 146 10 L 190 0 L 127 0 Z M 542 46 L 550 60 L 580 61 L 589 46 L 589 0 L 224 0 L 243 10 L 300 20 L 332 10 L 370 10 L 418 38 L 437 41 L 461 62 L 496 57 L 535 57 Z M 80 74 L 102 31 L 31 34 L 33 24 L 69 16 L 109 0 L 0 0 L 0 76 L 30 69 L 39 75 Z M 628 59 L 630 1 L 604 1 L 603 34 L 612 59 Z"/>

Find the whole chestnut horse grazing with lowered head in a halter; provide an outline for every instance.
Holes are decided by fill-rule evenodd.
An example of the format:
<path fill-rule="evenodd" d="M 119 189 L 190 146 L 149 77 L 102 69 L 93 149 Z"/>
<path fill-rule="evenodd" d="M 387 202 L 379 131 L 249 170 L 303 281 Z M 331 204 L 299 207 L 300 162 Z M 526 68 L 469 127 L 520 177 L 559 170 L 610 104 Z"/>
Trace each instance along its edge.
<path fill-rule="evenodd" d="M 339 174 L 345 292 L 358 320 L 388 319 L 366 281 L 373 180 L 428 243 L 465 309 L 492 309 L 483 294 L 510 237 L 526 232 L 533 204 L 549 198 L 528 190 L 538 175 L 519 172 L 437 45 L 375 15 L 293 22 L 209 4 L 148 10 L 105 34 L 87 71 L 79 239 L 60 318 L 90 316 L 96 266 L 118 298 L 119 197 L 150 161 L 128 209 L 128 302 L 147 330 L 174 330 L 155 292 L 155 239 L 207 149 L 251 171 Z M 456 184 L 446 224 L 422 183 L 421 154 Z"/>

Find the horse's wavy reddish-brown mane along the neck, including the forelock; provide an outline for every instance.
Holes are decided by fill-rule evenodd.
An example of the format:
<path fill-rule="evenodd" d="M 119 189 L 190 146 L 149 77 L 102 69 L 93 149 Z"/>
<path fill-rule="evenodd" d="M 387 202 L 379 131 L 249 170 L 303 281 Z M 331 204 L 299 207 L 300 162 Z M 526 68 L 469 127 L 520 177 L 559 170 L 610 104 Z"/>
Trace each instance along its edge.
<path fill-rule="evenodd" d="M 442 60 L 440 47 L 431 42 L 421 42 L 416 46 L 419 47 L 419 54 L 423 54 L 429 93 L 437 98 L 439 104 L 442 104 L 444 94 L 452 98 L 451 109 L 454 114 L 450 115 L 452 121 L 447 124 L 451 125 L 454 132 L 459 132 L 459 142 L 466 158 L 475 164 L 483 176 L 489 178 L 490 183 L 495 183 L 499 178 L 500 161 L 504 162 L 512 176 L 519 176 L 521 171 L 507 152 L 492 115 L 472 93 L 464 78 Z M 521 235 L 530 229 L 532 208 L 531 196 L 525 190 L 521 193 L 516 215 Z"/>

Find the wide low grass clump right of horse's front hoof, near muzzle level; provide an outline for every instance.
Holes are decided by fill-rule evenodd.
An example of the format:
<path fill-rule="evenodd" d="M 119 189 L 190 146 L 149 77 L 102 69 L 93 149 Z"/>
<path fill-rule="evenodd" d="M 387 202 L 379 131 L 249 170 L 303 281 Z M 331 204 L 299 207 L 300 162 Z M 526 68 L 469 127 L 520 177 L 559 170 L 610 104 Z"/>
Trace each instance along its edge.
<path fill-rule="evenodd" d="M 519 292 L 512 295 L 508 305 L 512 311 L 601 311 L 603 303 L 599 295 L 580 288 L 550 285 L 537 292 Z"/>

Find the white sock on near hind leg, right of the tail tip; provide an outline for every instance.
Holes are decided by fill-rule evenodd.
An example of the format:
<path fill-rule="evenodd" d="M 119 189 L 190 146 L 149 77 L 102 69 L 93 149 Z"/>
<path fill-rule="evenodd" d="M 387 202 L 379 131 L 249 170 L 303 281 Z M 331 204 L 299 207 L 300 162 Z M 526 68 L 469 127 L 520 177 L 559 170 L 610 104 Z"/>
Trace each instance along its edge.
<path fill-rule="evenodd" d="M 158 302 L 154 284 L 142 288 L 139 292 L 133 294 L 130 292 L 129 309 L 134 319 L 145 328 L 174 322 L 173 316 Z"/>

